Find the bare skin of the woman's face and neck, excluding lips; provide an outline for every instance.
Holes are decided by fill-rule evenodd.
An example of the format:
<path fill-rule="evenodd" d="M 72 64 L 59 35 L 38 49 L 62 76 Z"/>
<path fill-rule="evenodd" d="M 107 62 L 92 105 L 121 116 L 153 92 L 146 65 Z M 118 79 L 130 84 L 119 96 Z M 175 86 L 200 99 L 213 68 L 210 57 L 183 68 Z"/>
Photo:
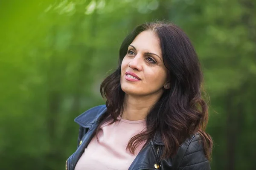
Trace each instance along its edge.
<path fill-rule="evenodd" d="M 153 54 L 148 54 L 153 53 Z M 154 55 L 156 54 L 156 55 Z M 125 79 L 125 72 L 136 74 L 140 81 Z M 145 119 L 150 107 L 170 88 L 168 70 L 163 63 L 160 40 L 152 31 L 141 32 L 129 45 L 121 65 L 121 88 L 125 92 L 123 119 Z"/>

